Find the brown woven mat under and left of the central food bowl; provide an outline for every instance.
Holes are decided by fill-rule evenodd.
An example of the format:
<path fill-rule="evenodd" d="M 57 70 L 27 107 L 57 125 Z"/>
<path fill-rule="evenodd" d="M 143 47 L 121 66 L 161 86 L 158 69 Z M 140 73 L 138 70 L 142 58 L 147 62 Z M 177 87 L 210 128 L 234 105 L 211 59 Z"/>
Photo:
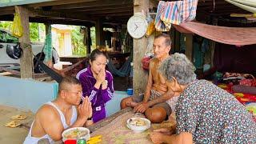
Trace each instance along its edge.
<path fill-rule="evenodd" d="M 130 130 L 126 126 L 126 121 L 129 118 L 133 117 L 144 117 L 142 114 L 134 114 L 133 112 L 126 112 L 106 126 L 102 126 L 100 129 L 94 131 L 91 136 L 102 135 L 101 143 L 129 143 L 129 144 L 150 144 L 152 143 L 148 134 L 152 132 L 153 128 L 150 127 L 149 130 L 146 130 L 142 133 L 134 133 L 133 130 Z"/>

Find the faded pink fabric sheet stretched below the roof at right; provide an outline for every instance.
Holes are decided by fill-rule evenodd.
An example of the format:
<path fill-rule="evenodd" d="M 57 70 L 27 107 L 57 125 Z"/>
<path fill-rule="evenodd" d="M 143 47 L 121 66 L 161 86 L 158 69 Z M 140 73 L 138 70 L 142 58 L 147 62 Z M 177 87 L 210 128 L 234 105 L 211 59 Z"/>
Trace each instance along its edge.
<path fill-rule="evenodd" d="M 182 33 L 192 32 L 215 42 L 229 45 L 256 44 L 256 27 L 212 26 L 199 22 L 183 22 L 173 26 Z"/>

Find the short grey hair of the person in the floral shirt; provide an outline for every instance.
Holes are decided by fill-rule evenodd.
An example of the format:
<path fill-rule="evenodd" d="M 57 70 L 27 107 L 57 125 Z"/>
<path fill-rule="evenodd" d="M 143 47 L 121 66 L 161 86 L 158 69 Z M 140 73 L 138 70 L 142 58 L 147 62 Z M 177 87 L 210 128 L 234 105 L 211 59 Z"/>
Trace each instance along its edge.
<path fill-rule="evenodd" d="M 159 67 L 160 73 L 162 76 L 166 77 L 168 81 L 172 81 L 174 77 L 181 85 L 186 85 L 196 79 L 194 70 L 194 65 L 186 58 L 186 55 L 178 53 L 172 54 L 170 58 L 162 62 L 162 65 Z"/>

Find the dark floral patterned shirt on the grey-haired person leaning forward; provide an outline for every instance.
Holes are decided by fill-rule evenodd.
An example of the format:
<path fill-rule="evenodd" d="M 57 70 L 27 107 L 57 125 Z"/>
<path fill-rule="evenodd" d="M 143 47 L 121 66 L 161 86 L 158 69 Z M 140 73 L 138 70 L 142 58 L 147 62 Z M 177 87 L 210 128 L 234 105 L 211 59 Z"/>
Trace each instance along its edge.
<path fill-rule="evenodd" d="M 176 105 L 177 133 L 194 143 L 256 143 L 256 124 L 233 95 L 206 80 L 191 82 Z"/>

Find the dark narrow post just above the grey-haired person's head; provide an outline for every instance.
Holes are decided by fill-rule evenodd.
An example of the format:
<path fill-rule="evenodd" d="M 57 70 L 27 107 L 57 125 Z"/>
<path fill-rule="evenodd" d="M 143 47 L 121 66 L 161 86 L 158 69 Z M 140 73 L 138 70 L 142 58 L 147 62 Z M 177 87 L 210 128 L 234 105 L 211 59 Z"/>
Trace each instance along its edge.
<path fill-rule="evenodd" d="M 193 35 L 185 34 L 186 37 L 186 57 L 189 58 L 191 62 L 193 62 Z"/>

